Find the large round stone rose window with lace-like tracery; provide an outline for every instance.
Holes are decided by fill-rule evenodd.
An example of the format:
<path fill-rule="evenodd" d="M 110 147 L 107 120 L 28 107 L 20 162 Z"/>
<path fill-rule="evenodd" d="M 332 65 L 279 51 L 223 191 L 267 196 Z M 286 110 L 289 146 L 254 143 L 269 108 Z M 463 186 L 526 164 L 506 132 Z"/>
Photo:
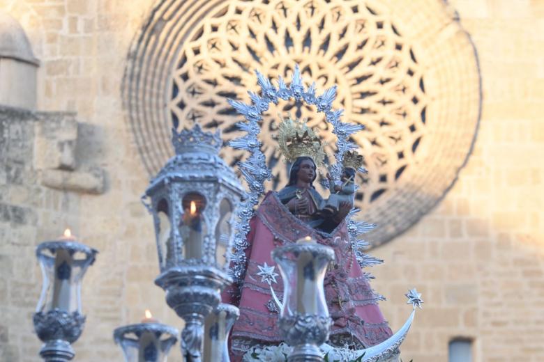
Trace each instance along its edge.
<path fill-rule="evenodd" d="M 248 102 L 254 70 L 290 79 L 298 63 L 317 94 L 336 84 L 334 108 L 365 125 L 368 175 L 358 175 L 360 217 L 385 242 L 437 203 L 464 164 L 479 117 L 474 47 L 438 0 L 162 1 L 133 42 L 126 68 L 128 119 L 149 173 L 171 156 L 169 130 L 200 123 L 225 141 L 242 120 L 227 98 Z M 313 107 L 280 102 L 264 115 L 262 150 L 275 180 L 287 166 L 273 139 L 281 117 L 306 118 L 333 156 L 335 136 Z M 224 149 L 234 165 L 245 155 Z M 325 170 L 322 170 L 324 173 Z M 319 190 L 322 191 L 322 190 Z M 326 191 L 322 191 L 326 197 Z"/>

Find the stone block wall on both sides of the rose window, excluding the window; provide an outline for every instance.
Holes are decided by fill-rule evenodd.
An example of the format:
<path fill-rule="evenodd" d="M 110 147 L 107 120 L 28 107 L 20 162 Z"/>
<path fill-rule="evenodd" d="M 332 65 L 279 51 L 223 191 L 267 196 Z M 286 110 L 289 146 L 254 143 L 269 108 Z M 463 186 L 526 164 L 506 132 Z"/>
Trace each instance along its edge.
<path fill-rule="evenodd" d="M 0 0 L 40 59 L 38 109 L 76 112 L 74 171 L 96 166 L 105 175 L 103 194 L 44 186 L 35 147 L 50 118 L 1 110 L 0 361 L 40 360 L 31 322 L 41 284 L 33 249 L 66 227 L 100 251 L 84 280 L 88 317 L 74 346 L 77 361 L 120 361 L 112 330 L 137 322 L 145 308 L 181 326 L 153 285 L 151 218 L 139 203 L 148 180 L 121 109 L 128 47 L 152 2 Z M 476 361 L 542 361 L 544 3 L 450 3 L 481 61 L 476 144 L 435 210 L 372 251 L 386 261 L 372 270 L 373 286 L 388 297 L 381 306 L 393 329 L 409 314 L 407 289 L 423 292 L 424 310 L 402 349 L 407 361 L 447 361 L 455 336 L 474 338 Z M 180 361 L 174 349 L 172 360 Z"/>

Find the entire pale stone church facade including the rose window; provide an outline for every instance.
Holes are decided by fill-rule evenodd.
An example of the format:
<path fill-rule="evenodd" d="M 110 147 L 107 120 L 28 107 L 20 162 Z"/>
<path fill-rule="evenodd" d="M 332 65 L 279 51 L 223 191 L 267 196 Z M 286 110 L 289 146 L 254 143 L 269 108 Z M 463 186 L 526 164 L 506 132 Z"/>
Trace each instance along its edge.
<path fill-rule="evenodd" d="M 368 269 L 371 285 L 388 299 L 380 308 L 393 330 L 407 315 L 406 290 L 416 286 L 425 299 L 402 358 L 445 362 L 448 346 L 467 340 L 474 361 L 544 359 L 544 3 L 331 1 L 338 17 L 319 18 L 324 33 L 334 40 L 344 24 L 361 33 L 328 45 L 312 22 L 318 1 L 263 2 L 262 13 L 245 10 L 247 2 L 202 1 L 202 17 L 173 3 L 185 4 L 0 0 L 1 361 L 40 360 L 34 249 L 65 228 L 100 251 L 83 285 L 77 360 L 121 360 L 112 331 L 146 309 L 181 326 L 153 284 L 153 225 L 139 202 L 171 152 L 169 123 L 228 129 L 235 116 L 221 100 L 248 98 L 238 85 L 255 82 L 243 66 L 281 75 L 289 61 L 311 63 L 301 54 L 315 54 L 312 64 L 321 63 L 307 74 L 321 79 L 321 91 L 338 82 L 340 107 L 369 129 L 358 140 L 369 176 L 356 203 L 382 224 L 368 241 L 385 260 Z M 289 6 L 299 5 L 311 42 L 297 17 L 291 27 L 274 20 L 287 22 Z M 276 38 L 274 26 L 283 29 Z M 234 41 L 233 29 L 248 40 Z M 232 48 L 214 53 L 221 44 Z M 366 66 L 381 78 L 353 75 L 358 54 L 363 63 L 374 57 Z M 206 61 L 221 68 L 222 58 L 229 72 L 216 79 Z M 174 70 L 161 65 L 172 59 Z M 399 70 L 405 88 L 391 83 Z M 285 170 L 275 175 L 285 181 Z"/>

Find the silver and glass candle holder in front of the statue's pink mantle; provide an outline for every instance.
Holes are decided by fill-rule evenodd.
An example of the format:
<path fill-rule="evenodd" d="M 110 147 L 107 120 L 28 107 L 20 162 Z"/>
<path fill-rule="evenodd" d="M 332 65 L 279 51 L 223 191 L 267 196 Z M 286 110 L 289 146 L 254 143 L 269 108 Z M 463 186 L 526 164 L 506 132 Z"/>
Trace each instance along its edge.
<path fill-rule="evenodd" d="M 321 362 L 318 346 L 326 342 L 331 329 L 323 280 L 334 251 L 305 237 L 274 249 L 272 257 L 284 283 L 279 328 L 285 342 L 294 347 L 288 361 Z"/>

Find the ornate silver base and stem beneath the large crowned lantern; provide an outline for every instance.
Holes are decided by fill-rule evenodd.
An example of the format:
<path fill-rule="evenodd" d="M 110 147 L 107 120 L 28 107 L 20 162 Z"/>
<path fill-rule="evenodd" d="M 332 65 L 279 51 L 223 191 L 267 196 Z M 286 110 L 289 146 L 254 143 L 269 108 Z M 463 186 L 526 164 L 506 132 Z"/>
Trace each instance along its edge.
<path fill-rule="evenodd" d="M 204 318 L 218 306 L 220 290 L 231 282 L 214 267 L 177 267 L 160 274 L 156 285 L 166 290 L 166 302 L 185 320 L 181 350 L 187 362 L 202 361 Z"/>

